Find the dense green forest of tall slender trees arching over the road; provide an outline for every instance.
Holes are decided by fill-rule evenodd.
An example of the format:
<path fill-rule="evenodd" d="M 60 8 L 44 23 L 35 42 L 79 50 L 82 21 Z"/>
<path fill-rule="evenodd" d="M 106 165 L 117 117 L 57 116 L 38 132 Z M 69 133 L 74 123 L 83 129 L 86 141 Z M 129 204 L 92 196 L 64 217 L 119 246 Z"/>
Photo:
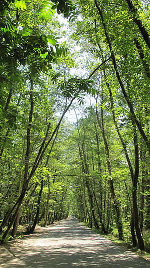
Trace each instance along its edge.
<path fill-rule="evenodd" d="M 0 0 L 1 242 L 74 215 L 150 250 L 148 2 Z"/>

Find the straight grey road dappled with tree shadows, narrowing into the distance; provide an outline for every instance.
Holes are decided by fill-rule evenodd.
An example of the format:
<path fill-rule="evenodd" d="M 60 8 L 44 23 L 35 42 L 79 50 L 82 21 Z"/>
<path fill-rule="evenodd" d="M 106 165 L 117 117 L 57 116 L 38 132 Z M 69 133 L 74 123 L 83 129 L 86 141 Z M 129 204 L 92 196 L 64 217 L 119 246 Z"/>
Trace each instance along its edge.
<path fill-rule="evenodd" d="M 69 217 L 52 228 L 1 246 L 0 267 L 150 268 L 150 262 Z"/>

